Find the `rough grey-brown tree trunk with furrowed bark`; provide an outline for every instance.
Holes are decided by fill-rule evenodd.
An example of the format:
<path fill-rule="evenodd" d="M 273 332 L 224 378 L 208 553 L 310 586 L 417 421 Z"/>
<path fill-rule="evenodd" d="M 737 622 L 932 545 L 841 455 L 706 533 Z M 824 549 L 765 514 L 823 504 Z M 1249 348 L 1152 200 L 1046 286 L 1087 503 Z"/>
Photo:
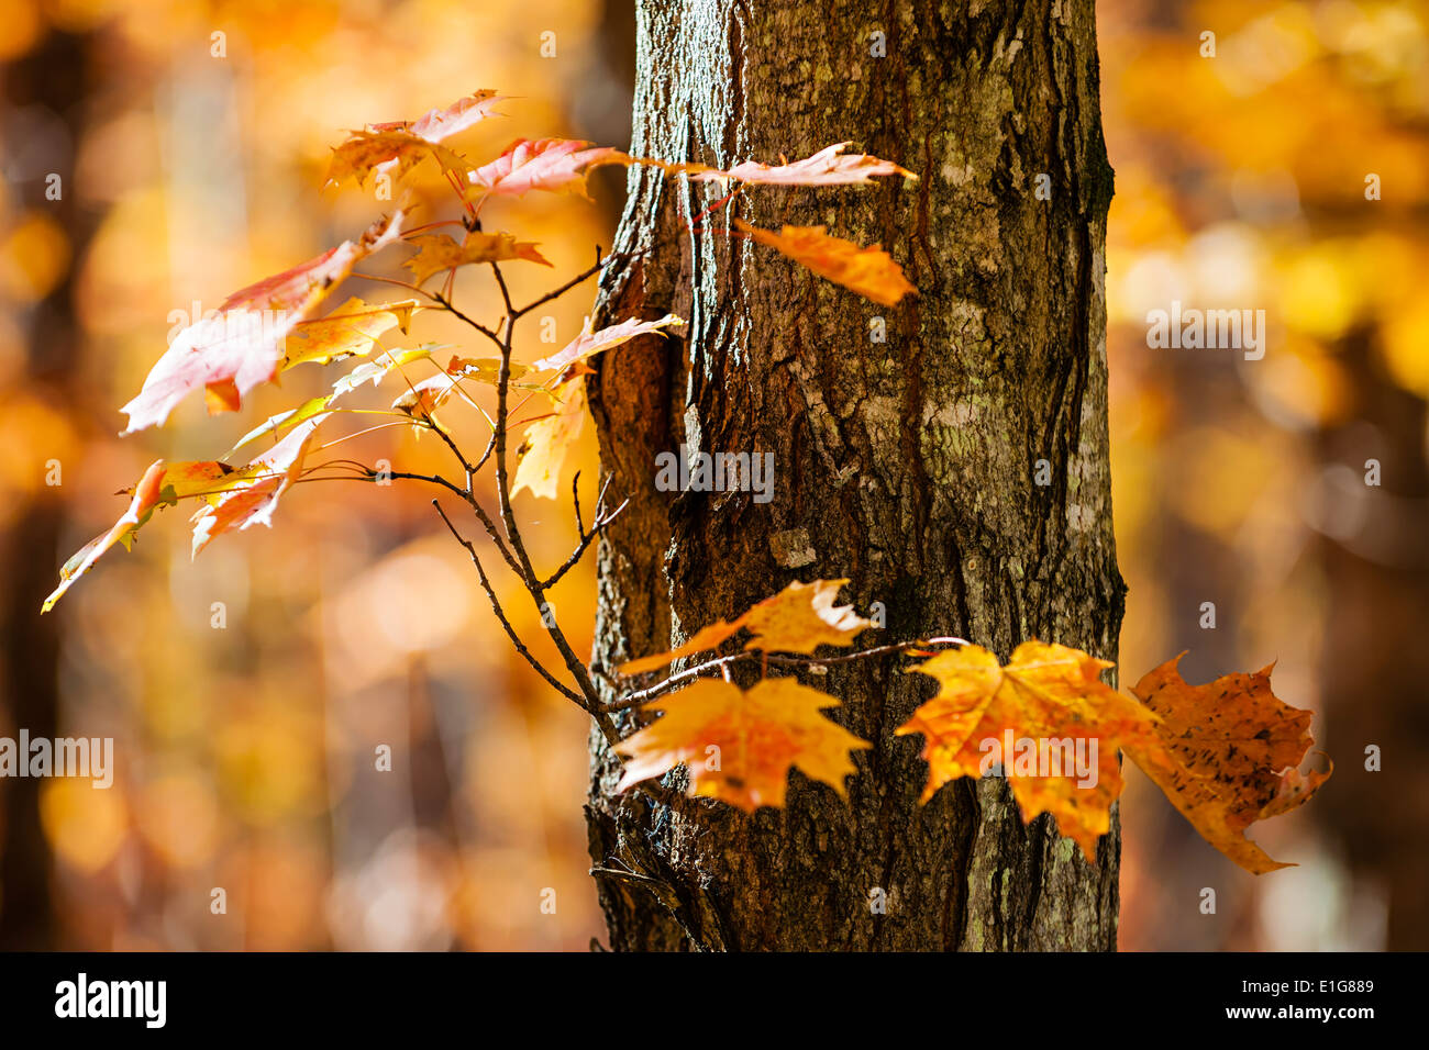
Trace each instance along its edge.
<path fill-rule="evenodd" d="M 690 233 L 722 190 L 630 170 L 616 250 L 646 254 L 604 274 L 602 317 L 689 327 L 589 379 L 603 471 L 630 497 L 600 547 L 596 666 L 820 577 L 849 577 L 865 614 L 883 603 L 885 641 L 960 634 L 1006 659 L 1040 637 L 1115 660 L 1092 0 L 639 0 L 637 34 L 636 153 L 727 167 L 852 139 L 919 180 L 755 187 Z M 869 303 L 726 236 L 733 216 L 879 241 L 919 296 Z M 656 491 L 656 454 L 682 443 L 773 451 L 773 501 Z M 1023 827 L 1005 780 L 919 806 L 920 737 L 893 730 L 933 683 L 902 663 L 809 679 L 873 743 L 847 801 L 799 773 L 786 810 L 753 816 L 616 796 L 596 739 L 612 947 L 1115 949 L 1115 810 L 1089 864 L 1049 817 Z M 683 770 L 666 781 L 683 790 Z"/>

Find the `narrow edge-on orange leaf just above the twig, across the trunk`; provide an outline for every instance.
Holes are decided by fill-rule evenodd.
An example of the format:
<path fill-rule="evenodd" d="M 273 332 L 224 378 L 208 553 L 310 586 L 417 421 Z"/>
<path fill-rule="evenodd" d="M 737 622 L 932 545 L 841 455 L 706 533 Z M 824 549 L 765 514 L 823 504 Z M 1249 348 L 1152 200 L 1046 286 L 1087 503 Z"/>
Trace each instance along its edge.
<path fill-rule="evenodd" d="M 736 620 L 716 620 L 677 649 L 622 664 L 620 673 L 659 670 L 680 657 L 714 649 L 746 629 L 753 634 L 746 650 L 812 653 L 819 646 L 847 646 L 859 631 L 873 624 L 855 613 L 853 606 L 835 604 L 839 589 L 846 583 L 847 580 L 796 580 L 773 597 L 750 606 Z"/>

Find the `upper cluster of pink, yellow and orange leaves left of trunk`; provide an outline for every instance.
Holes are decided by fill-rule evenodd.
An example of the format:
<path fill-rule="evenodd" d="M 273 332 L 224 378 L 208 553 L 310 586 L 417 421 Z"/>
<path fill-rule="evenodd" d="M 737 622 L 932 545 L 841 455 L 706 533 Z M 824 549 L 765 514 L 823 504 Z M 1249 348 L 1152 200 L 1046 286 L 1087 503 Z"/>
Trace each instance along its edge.
<path fill-rule="evenodd" d="M 584 331 L 559 353 L 530 366 L 512 360 L 512 330 L 516 320 L 579 286 L 599 270 L 600 261 L 597 259 L 594 267 L 536 303 L 514 309 L 506 296 L 500 264 L 550 263 L 536 244 L 520 241 L 510 233 L 489 233 L 480 227 L 482 206 L 492 197 L 522 197 L 534 190 L 583 196 L 586 176 L 602 164 L 647 164 L 692 181 L 733 184 L 735 190 L 725 201 L 732 200 L 745 186 L 850 186 L 866 184 L 872 176 L 915 177 L 886 160 L 845 153 L 849 143 L 830 146 L 795 163 L 770 166 L 746 161 L 720 170 L 704 164 L 632 157 L 610 147 L 592 147 L 590 143 L 569 139 L 517 139 L 493 160 L 472 164 L 446 143 L 477 123 L 499 116 L 493 111 L 499 101 L 502 97 L 494 91 L 477 91 L 413 121 L 370 124 L 353 131 L 333 150 L 329 170 L 329 181 L 333 184 L 354 180 L 362 186 L 374 176 L 400 180 L 417 164 L 432 160 L 452 186 L 462 219 L 409 226 L 407 210 L 399 209 L 396 214 L 377 220 L 359 240 L 344 241 L 306 263 L 233 293 L 214 316 L 181 330 L 150 370 L 139 394 L 123 407 L 129 416 L 126 434 L 163 424 L 179 403 L 199 390 L 204 393 L 210 413 L 236 411 L 254 387 L 276 381 L 282 373 L 299 364 L 330 364 L 353 357 L 369 360 L 339 377 L 330 394 L 307 400 L 266 420 L 230 450 L 224 460 L 160 460 L 150 466 L 141 481 L 133 490 L 126 490 L 133 491 L 129 510 L 110 530 L 64 564 L 59 587 L 44 601 L 44 611 L 109 549 L 114 544 L 127 549 L 156 507 L 173 506 L 181 500 L 199 504 L 193 517 L 194 554 L 224 531 L 247 529 L 259 521 L 272 524 L 273 509 L 296 480 L 320 480 L 314 471 L 332 466 L 310 467 L 306 460 L 313 450 L 317 429 L 336 414 L 387 414 L 434 430 L 453 446 L 463 467 L 470 467 L 469 473 L 484 466 L 492 453 L 497 451 L 503 501 L 522 490 L 554 499 L 564 453 L 584 416 L 580 381 L 589 367 L 584 361 L 637 336 L 679 327 L 684 321 L 673 314 L 653 321 L 632 317 L 600 331 Z M 460 227 L 460 240 L 433 231 L 443 226 Z M 899 266 L 877 246 L 862 249 L 826 234 L 822 227 L 786 226 L 780 233 L 773 233 L 737 223 L 737 230 L 725 233 L 749 236 L 769 244 L 815 273 L 875 301 L 895 303 L 913 291 Z M 417 297 L 380 304 L 353 297 L 326 316 L 317 316 L 344 280 L 367 276 L 356 271 L 363 260 L 396 244 L 410 246 L 417 251 L 404 261 L 412 271 L 412 281 L 389 283 L 402 286 Z M 456 270 L 479 263 L 492 266 L 506 300 L 506 317 L 492 327 L 472 320 L 450 301 Z M 442 273 L 446 274 L 442 291 L 423 287 Z M 409 377 L 410 366 L 433 364 L 434 353 L 442 347 L 427 344 L 392 349 L 382 346 L 380 340 L 392 330 L 406 336 L 413 314 L 430 309 L 446 310 L 469 323 L 496 344 L 500 357 L 453 356 L 436 374 L 419 380 Z M 497 329 L 503 326 L 504 334 L 499 334 Z M 406 389 L 387 410 L 337 404 L 363 384 L 380 384 L 389 373 L 397 373 Z M 527 400 L 542 397 L 549 410 L 533 411 L 527 419 L 513 421 L 506 396 L 517 381 L 529 391 Z M 499 390 L 497 417 L 493 419 L 483 410 L 492 434 L 486 453 L 474 464 L 460 453 L 453 436 L 434 414 L 453 396 L 476 404 L 469 387 L 472 383 Z M 519 466 L 507 490 L 504 437 L 507 429 L 516 426 L 526 427 L 526 434 L 517 449 Z M 226 461 L 264 436 L 283 437 L 243 466 Z M 344 439 L 322 447 L 332 447 L 340 440 Z M 374 476 L 374 471 L 367 474 Z M 470 477 L 466 487 L 470 490 Z M 470 499 L 470 493 L 466 494 Z M 512 540 L 510 536 L 506 539 Z"/>

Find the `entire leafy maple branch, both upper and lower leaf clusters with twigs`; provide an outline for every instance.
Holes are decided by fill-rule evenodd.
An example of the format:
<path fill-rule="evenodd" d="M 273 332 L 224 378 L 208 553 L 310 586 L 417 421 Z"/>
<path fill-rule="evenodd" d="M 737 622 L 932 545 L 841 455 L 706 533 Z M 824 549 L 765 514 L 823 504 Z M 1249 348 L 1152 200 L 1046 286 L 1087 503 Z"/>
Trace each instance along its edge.
<path fill-rule="evenodd" d="M 153 463 L 139 483 L 126 490 L 131 499 L 124 514 L 61 569 L 59 587 L 44 601 L 46 611 L 107 550 L 116 544 L 127 549 L 156 509 L 194 501 L 193 553 L 197 554 L 223 533 L 254 523 L 272 524 L 279 500 L 300 480 L 357 477 L 372 481 L 383 476 L 424 483 L 462 499 L 536 607 L 546 611 L 546 591 L 579 561 L 620 507 L 609 510 L 602 491 L 587 529 L 580 516 L 579 493 L 573 491 L 579 543 L 562 566 L 543 576 L 526 551 L 512 497 L 522 490 L 546 499 L 557 496 L 566 450 L 584 416 L 583 376 L 590 370 L 589 359 L 633 339 L 666 333 L 683 321 L 673 314 L 629 317 L 599 331 L 586 330 L 557 353 L 530 364 L 513 360 L 517 321 L 579 287 L 609 260 L 597 254 L 594 266 L 517 307 L 502 266 L 550 263 L 536 244 L 520 241 L 507 231 L 483 230 L 483 204 L 492 197 L 522 197 L 536 190 L 583 194 L 586 176 L 597 166 L 646 164 L 669 177 L 717 183 L 726 190 L 733 187 L 700 216 L 690 217 L 693 229 L 693 223 L 716 206 L 733 201 L 749 186 L 859 186 L 875 176 L 915 177 L 890 161 L 846 153 L 849 143 L 829 146 L 793 163 L 783 159 L 779 164 L 746 161 L 722 170 L 632 157 L 576 140 L 519 139 L 493 160 L 472 164 L 447 141 L 497 116 L 493 107 L 499 101 L 493 91 L 477 91 L 414 121 L 372 124 L 353 131 L 334 149 L 329 173 L 333 183 L 364 184 L 374 176 L 400 180 L 417 164 L 433 161 L 452 187 L 460 219 L 410 226 L 410 210 L 400 207 L 357 240 L 234 293 L 216 316 L 179 333 L 140 393 L 124 406 L 126 433 L 163 424 L 177 404 L 200 390 L 210 413 L 236 411 L 250 391 L 277 380 L 289 369 L 362 360 L 336 379 L 330 393 L 264 420 L 221 460 Z M 440 231 L 442 227 L 457 227 L 460 236 Z M 735 219 L 733 229 L 714 233 L 769 246 L 880 304 L 893 306 L 915 291 L 882 249 L 860 247 L 830 236 L 823 227 L 785 226 L 776 233 Z M 410 281 L 357 271 L 363 260 L 392 246 L 416 250 L 404 261 L 412 271 Z M 500 290 L 504 314 L 493 326 L 482 324 L 452 301 L 456 270 L 473 264 L 489 266 Z M 429 290 L 427 283 L 440 274 L 444 274 L 442 290 Z M 350 297 L 319 316 L 349 277 L 383 280 L 403 289 L 407 297 L 386 303 Z M 493 344 L 496 356 L 454 353 L 440 366 L 436 353 L 446 347 L 383 344 L 393 331 L 407 336 L 414 317 L 426 310 L 446 311 L 464 321 Z M 430 374 L 413 377 L 409 370 L 416 367 Z M 392 374 L 400 377 L 402 390 L 389 407 L 346 404 L 346 399 L 362 387 L 376 387 Z M 494 389 L 492 411 L 476 399 L 480 386 Z M 514 407 L 513 394 L 523 399 Z M 476 407 L 489 427 L 484 451 L 477 457 L 469 456 L 437 417 L 453 399 Z M 533 400 L 537 407 L 520 417 Z M 440 474 L 377 471 L 352 460 L 309 463 L 313 451 L 354 436 L 322 446 L 314 443 L 320 427 L 344 414 L 392 417 L 393 424 L 436 434 L 454 456 L 463 481 Z M 509 450 L 509 439 L 517 429 L 523 430 L 520 443 Z M 243 464 L 229 463 L 240 450 L 264 439 L 272 443 L 263 451 Z M 514 470 L 509 459 L 516 460 Z M 473 487 L 473 477 L 489 463 L 496 473 L 496 514 L 483 506 Z M 842 580 L 793 583 L 739 619 L 704 627 L 676 650 L 626 664 L 624 674 L 644 674 L 713 650 L 742 631 L 750 636 L 739 653 L 677 671 L 654 686 L 627 690 L 619 700 L 603 701 L 553 617 L 543 616 L 543 623 L 566 664 L 569 681 L 530 654 L 516 636 L 476 546 L 462 536 L 437 500 L 433 504 L 469 551 L 493 613 L 517 651 L 553 689 L 587 711 L 607 741 L 624 756 L 624 787 L 640 784 L 642 790 L 664 791 L 647 781 L 683 763 L 689 769 L 692 794 L 747 810 L 782 806 L 790 767 L 842 793 L 845 779 L 855 771 L 852 753 L 870 744 L 820 714 L 837 706 L 837 700 L 789 676 L 763 677 L 749 690 L 740 690 L 727 677 L 709 676 L 716 670 L 727 676 L 727 666 L 745 659 L 760 660 L 767 671 L 770 666 L 826 669 L 830 663 L 890 653 L 919 656 L 923 661 L 912 670 L 939 683 L 937 696 L 899 729 L 899 733 L 919 733 L 925 739 L 929 761 L 925 800 L 949 780 L 979 776 L 979 741 L 999 737 L 1005 730 L 1017 737 L 1092 736 L 1100 741 L 1099 776 L 1093 787 L 1079 787 L 1066 776 L 1025 776 L 1015 766 L 1007 770 L 1023 817 L 1030 820 L 1039 813 L 1052 813 L 1062 833 L 1076 840 L 1089 859 L 1097 836 L 1109 826 L 1110 804 L 1122 790 L 1119 751 L 1146 770 L 1212 844 L 1252 871 L 1280 864 L 1246 840 L 1245 829 L 1303 803 L 1328 776 L 1298 771 L 1312 743 L 1309 714 L 1285 706 L 1270 693 L 1269 669 L 1192 687 L 1182 681 L 1172 660 L 1136 686 L 1133 700 L 1102 684 L 1100 674 L 1109 667 L 1105 661 L 1039 641 L 1020 646 L 1006 666 L 999 666 L 992 653 L 953 639 L 815 656 L 820 646 L 850 646 L 855 636 L 870 626 L 852 609 L 836 604 Z M 953 647 L 937 649 L 940 646 Z M 662 696 L 676 687 L 682 689 Z M 636 706 L 663 711 L 663 717 L 622 737 L 612 714 Z M 710 747 L 720 754 L 713 766 L 703 760 Z"/>

